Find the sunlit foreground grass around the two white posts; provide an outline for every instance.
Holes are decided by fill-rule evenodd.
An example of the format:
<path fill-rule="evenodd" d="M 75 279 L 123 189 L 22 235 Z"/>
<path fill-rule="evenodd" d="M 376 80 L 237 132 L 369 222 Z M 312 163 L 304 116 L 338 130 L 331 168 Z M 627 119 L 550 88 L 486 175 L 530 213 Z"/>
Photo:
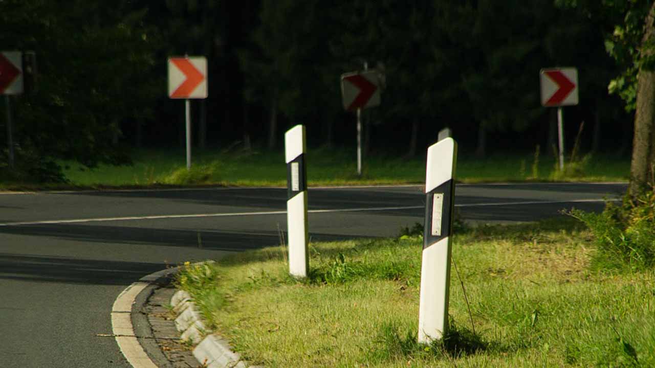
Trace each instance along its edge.
<path fill-rule="evenodd" d="M 652 367 L 655 273 L 589 267 L 572 220 L 457 234 L 451 333 L 415 342 L 420 236 L 310 245 L 307 280 L 281 247 L 187 265 L 178 279 L 210 326 L 267 367 Z"/>

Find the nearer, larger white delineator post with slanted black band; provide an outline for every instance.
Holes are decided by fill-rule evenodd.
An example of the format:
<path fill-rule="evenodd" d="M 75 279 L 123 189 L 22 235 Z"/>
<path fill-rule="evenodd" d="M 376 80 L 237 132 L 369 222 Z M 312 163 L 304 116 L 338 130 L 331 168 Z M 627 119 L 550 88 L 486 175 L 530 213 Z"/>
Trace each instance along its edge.
<path fill-rule="evenodd" d="M 428 148 L 419 302 L 421 343 L 439 340 L 448 331 L 456 162 L 457 143 L 453 138 L 445 138 Z"/>

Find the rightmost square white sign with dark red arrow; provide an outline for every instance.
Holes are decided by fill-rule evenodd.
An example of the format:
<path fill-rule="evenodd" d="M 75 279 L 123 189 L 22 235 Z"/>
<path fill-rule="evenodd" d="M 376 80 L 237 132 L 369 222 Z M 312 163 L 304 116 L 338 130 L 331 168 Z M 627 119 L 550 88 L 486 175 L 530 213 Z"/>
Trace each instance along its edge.
<path fill-rule="evenodd" d="M 540 79 L 542 105 L 578 104 L 578 70 L 574 67 L 542 69 Z"/>

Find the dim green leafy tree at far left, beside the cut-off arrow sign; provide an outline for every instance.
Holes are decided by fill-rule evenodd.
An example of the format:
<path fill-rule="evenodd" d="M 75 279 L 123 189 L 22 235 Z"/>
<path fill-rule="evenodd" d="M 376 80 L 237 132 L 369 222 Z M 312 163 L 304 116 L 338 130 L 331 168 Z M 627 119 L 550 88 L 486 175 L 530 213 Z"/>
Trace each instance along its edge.
<path fill-rule="evenodd" d="M 118 124 L 149 119 L 160 83 L 149 73 L 159 41 L 145 12 L 128 0 L 0 1 L 0 44 L 33 50 L 38 65 L 35 91 L 12 98 L 18 170 L 10 175 L 60 179 L 59 158 L 128 162 L 115 144 Z"/>

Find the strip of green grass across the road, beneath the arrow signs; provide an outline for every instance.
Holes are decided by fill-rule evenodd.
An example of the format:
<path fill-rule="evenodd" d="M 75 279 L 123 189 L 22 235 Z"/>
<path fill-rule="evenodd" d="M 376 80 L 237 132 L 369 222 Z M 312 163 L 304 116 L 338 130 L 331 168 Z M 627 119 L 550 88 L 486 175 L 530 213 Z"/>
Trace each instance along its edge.
<path fill-rule="evenodd" d="M 100 166 L 88 170 L 73 162 L 64 162 L 65 175 L 77 187 L 132 187 L 153 185 L 238 185 L 285 186 L 284 153 L 199 151 L 193 153 L 193 168 L 201 173 L 191 180 L 180 179 L 185 170 L 185 152 L 136 151 L 132 166 Z M 346 150 L 312 149 L 307 154 L 309 185 L 406 184 L 423 183 L 425 158 L 396 156 L 364 157 L 363 175 L 356 174 L 356 155 Z M 462 155 L 457 177 L 464 183 L 489 181 L 626 181 L 629 161 L 612 156 L 595 156 L 586 162 L 582 175 L 555 175 L 555 160 L 533 153 L 492 155 L 483 160 Z M 195 179 L 194 179 L 195 177 Z"/>

